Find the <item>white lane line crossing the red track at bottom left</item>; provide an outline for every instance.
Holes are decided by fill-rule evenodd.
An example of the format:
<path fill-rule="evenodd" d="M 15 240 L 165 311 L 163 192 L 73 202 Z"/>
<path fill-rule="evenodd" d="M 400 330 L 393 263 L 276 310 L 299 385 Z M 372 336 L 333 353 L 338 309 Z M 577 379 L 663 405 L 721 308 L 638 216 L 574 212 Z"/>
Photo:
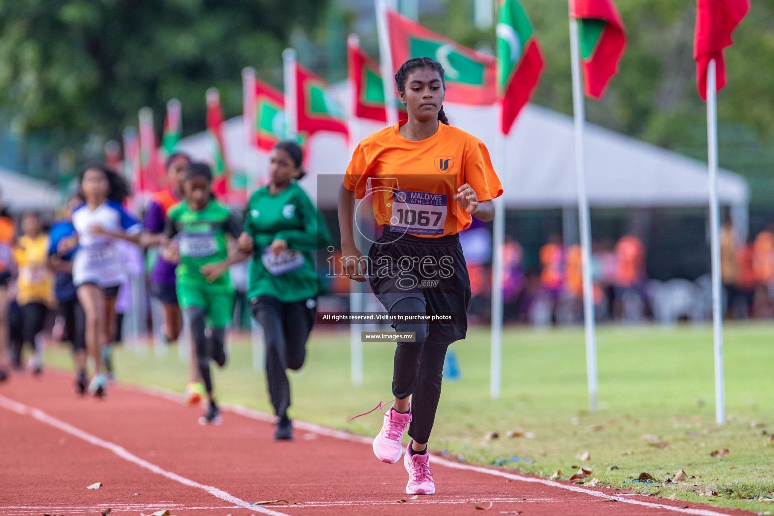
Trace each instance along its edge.
<path fill-rule="evenodd" d="M 250 506 L 250 502 L 248 501 L 241 500 L 241 498 L 228 494 L 224 490 L 220 490 L 217 487 L 199 484 L 198 482 L 195 482 L 194 480 L 190 480 L 189 478 L 186 478 L 186 477 L 182 477 L 177 473 L 172 473 L 171 471 L 164 470 L 162 467 L 156 466 L 156 464 L 150 463 L 147 460 L 141 459 L 139 458 L 139 456 L 136 456 L 135 454 L 130 453 L 127 449 L 123 448 L 122 446 L 118 446 L 115 443 L 110 443 L 108 441 L 100 439 L 97 436 L 92 436 L 90 433 L 84 432 L 84 430 L 78 429 L 73 425 L 70 425 L 66 422 L 63 422 L 60 419 L 53 417 L 52 415 L 46 414 L 46 412 L 43 412 L 39 408 L 29 407 L 22 403 L 15 402 L 12 399 L 5 398 L 5 396 L 2 396 L 2 395 L 0 395 L 0 406 L 7 408 L 12 412 L 16 412 L 19 415 L 32 416 L 34 419 L 37 419 L 39 422 L 46 423 L 46 425 L 53 426 L 55 429 L 59 429 L 62 432 L 69 433 L 70 436 L 77 437 L 78 439 L 83 439 L 84 441 L 86 441 L 91 445 L 99 446 L 100 448 L 107 449 L 108 451 L 115 453 L 122 459 L 128 460 L 128 462 L 130 463 L 136 464 L 137 466 L 145 468 L 146 470 L 152 471 L 152 473 L 156 473 L 157 475 L 161 475 L 162 477 L 166 477 L 170 480 L 175 480 L 176 482 L 180 482 L 180 484 L 183 484 L 188 487 L 196 487 L 197 489 L 204 490 L 205 492 L 211 494 L 212 496 L 220 498 L 223 501 L 228 501 L 228 503 L 234 504 L 235 506 L 238 506 L 238 507 Z M 260 506 L 251 506 L 249 507 L 249 509 L 251 511 L 260 512 L 262 514 L 269 514 L 270 516 L 286 516 L 286 514 L 283 514 L 281 512 L 270 511 L 269 509 L 265 509 L 264 507 L 260 507 Z"/>

